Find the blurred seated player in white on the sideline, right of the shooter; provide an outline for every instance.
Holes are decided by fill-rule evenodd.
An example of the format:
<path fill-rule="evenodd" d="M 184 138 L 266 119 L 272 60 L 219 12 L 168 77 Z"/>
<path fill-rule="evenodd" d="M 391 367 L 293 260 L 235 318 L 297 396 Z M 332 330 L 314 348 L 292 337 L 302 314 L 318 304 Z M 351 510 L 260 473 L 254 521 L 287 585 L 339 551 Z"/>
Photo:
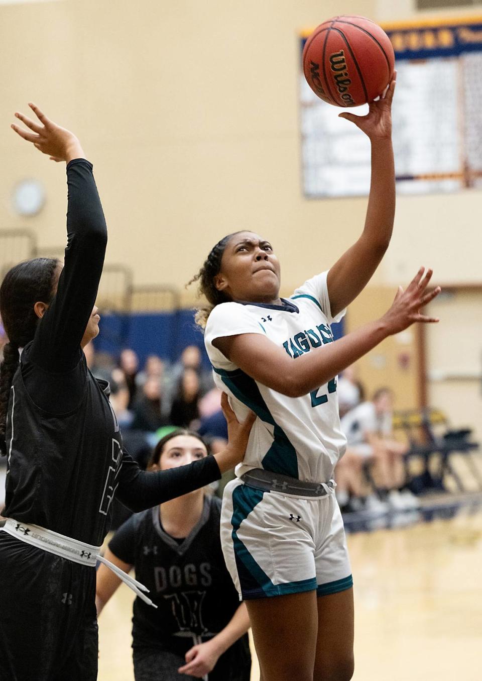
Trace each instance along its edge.
<path fill-rule="evenodd" d="M 417 498 L 404 488 L 404 454 L 408 447 L 393 438 L 393 393 L 383 387 L 369 402 L 361 402 L 341 419 L 347 436 L 347 452 L 336 466 L 337 497 L 344 510 L 356 509 L 362 500 L 367 509 L 385 510 L 418 506 Z M 363 470 L 373 464 L 374 494 L 364 496 Z M 350 501 L 351 494 L 351 502 Z"/>

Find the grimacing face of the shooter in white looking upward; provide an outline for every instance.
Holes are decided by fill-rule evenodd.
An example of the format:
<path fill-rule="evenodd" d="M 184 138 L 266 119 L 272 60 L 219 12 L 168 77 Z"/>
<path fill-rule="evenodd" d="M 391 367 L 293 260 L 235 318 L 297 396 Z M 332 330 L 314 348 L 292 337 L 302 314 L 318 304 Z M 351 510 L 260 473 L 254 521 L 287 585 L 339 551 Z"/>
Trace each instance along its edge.
<path fill-rule="evenodd" d="M 221 271 L 214 278 L 232 300 L 271 302 L 280 290 L 280 263 L 272 245 L 254 232 L 238 232 L 227 242 Z"/>

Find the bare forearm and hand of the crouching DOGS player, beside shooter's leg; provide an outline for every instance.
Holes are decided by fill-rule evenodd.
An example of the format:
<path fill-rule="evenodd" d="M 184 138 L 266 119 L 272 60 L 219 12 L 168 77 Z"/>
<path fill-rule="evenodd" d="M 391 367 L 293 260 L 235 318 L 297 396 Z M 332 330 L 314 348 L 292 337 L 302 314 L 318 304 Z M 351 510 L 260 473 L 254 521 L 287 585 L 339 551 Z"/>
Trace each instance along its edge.
<path fill-rule="evenodd" d="M 179 667 L 179 674 L 189 676 L 205 676 L 216 666 L 223 652 L 226 652 L 249 629 L 249 616 L 246 603 L 241 603 L 231 620 L 219 634 L 210 641 L 190 648 L 185 656 L 186 663 Z"/>

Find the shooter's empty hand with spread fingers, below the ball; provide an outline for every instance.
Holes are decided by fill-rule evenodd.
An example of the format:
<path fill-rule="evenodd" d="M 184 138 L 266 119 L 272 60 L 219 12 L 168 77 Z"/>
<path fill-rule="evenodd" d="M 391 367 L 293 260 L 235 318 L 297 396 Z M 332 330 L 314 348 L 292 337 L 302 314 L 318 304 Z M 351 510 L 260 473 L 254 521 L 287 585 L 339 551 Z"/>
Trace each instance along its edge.
<path fill-rule="evenodd" d="M 401 286 L 398 288 L 391 308 L 382 317 L 390 335 L 398 334 L 416 321 L 424 323 L 439 321 L 437 317 L 427 317 L 420 313 L 421 308 L 434 300 L 441 291 L 440 286 L 437 286 L 427 292 L 432 274 L 432 270 L 427 270 L 425 273 L 425 268 L 421 267 L 405 291 Z"/>

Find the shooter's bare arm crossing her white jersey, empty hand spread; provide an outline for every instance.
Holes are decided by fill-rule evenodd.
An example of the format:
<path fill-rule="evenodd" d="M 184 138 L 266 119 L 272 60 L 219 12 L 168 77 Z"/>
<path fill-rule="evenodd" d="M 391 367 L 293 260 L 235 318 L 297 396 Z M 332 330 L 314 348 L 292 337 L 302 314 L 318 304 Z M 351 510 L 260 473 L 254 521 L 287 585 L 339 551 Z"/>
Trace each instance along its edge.
<path fill-rule="evenodd" d="M 216 338 L 212 343 L 255 381 L 289 397 L 306 395 L 359 360 L 387 336 L 396 334 L 417 321 L 438 321 L 420 313 L 420 309 L 440 293 L 440 287 L 426 292 L 432 270 L 428 270 L 425 276 L 424 271 L 421 268 L 417 272 L 406 291 L 401 287 L 398 289 L 391 308 L 383 317 L 343 336 L 335 343 L 312 349 L 295 360 L 283 348 L 261 334 L 224 336 Z"/>

